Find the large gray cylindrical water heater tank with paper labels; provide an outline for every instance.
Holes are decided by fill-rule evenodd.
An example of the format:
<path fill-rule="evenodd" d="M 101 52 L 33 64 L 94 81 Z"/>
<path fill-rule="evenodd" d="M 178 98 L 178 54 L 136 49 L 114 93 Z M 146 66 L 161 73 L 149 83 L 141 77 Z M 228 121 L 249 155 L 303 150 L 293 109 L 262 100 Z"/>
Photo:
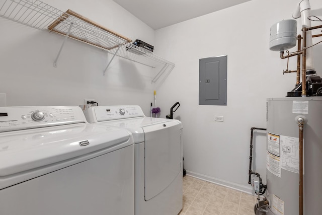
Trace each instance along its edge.
<path fill-rule="evenodd" d="M 322 214 L 322 97 L 267 99 L 268 215 L 299 215 L 299 128 L 303 128 L 304 215 Z"/>

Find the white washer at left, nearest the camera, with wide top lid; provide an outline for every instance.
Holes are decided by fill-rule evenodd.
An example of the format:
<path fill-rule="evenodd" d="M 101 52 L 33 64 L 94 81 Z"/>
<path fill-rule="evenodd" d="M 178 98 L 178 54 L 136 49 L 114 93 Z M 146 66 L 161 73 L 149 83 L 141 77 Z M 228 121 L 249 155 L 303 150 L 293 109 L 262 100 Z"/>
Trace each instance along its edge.
<path fill-rule="evenodd" d="M 0 214 L 134 214 L 134 142 L 81 108 L 0 107 Z"/>

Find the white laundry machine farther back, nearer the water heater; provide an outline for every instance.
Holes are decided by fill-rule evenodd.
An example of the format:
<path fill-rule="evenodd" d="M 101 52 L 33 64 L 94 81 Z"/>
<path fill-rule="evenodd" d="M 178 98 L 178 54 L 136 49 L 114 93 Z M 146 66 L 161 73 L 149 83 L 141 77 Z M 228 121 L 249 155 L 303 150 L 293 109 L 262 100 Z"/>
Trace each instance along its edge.
<path fill-rule="evenodd" d="M 134 137 L 135 215 L 177 215 L 182 209 L 182 123 L 145 117 L 139 106 L 99 106 L 88 122 L 126 128 Z"/>

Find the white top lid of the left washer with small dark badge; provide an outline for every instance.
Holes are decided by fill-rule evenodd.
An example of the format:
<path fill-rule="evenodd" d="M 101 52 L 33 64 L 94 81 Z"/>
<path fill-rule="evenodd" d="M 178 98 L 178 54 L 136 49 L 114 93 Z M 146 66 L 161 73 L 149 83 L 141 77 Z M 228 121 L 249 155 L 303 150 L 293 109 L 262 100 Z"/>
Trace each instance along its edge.
<path fill-rule="evenodd" d="M 0 133 L 0 177 L 133 144 L 125 129 L 78 123 Z"/>

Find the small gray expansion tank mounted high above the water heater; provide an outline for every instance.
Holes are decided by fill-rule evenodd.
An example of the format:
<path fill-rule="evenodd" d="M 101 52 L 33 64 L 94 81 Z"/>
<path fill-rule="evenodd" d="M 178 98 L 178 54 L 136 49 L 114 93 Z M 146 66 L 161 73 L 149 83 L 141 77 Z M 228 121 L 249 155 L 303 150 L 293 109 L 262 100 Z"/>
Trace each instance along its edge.
<path fill-rule="evenodd" d="M 270 30 L 270 50 L 284 51 L 296 45 L 296 20 L 283 20 L 272 25 Z"/>

